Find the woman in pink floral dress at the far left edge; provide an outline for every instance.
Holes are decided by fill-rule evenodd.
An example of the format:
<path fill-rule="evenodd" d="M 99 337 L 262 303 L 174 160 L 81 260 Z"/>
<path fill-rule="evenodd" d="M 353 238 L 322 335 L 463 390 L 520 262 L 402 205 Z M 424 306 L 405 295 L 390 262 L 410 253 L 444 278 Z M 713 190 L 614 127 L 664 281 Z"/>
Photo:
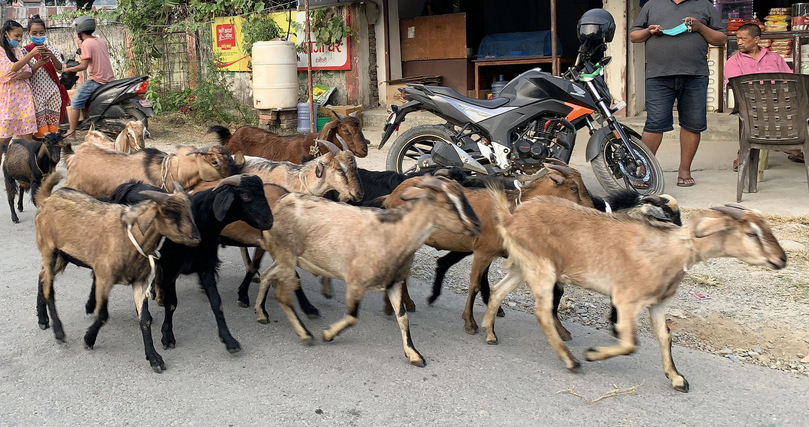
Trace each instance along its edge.
<path fill-rule="evenodd" d="M 3 23 L 2 52 L 0 52 L 0 146 L 5 149 L 12 137 L 33 141 L 36 132 L 36 113 L 31 95 L 31 67 L 28 61 L 40 53 L 33 49 L 19 57 L 19 42 L 23 40 L 23 26 L 11 19 Z M 39 47 L 37 47 L 39 48 Z M 44 55 L 43 55 L 44 56 Z M 0 153 L 2 160 L 2 153 Z"/>

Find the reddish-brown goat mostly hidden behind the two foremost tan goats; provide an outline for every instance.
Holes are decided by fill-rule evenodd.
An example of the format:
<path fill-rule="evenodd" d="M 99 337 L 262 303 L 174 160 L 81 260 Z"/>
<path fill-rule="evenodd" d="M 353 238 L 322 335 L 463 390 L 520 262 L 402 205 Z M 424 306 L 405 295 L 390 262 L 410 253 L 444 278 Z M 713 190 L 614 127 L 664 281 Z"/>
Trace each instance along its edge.
<path fill-rule="evenodd" d="M 519 190 L 509 190 L 507 192 L 512 209 L 520 199 L 526 200 L 538 195 L 562 197 L 579 205 L 593 207 L 590 194 L 582 182 L 582 175 L 577 170 L 572 167 L 547 163 L 545 167 L 548 168 L 547 174 L 528 182 Z M 396 187 L 391 195 L 385 198 L 383 207 L 390 209 L 401 205 L 403 203 L 400 201 L 401 192 L 415 182 L 417 182 L 415 178 L 411 178 Z M 502 239 L 500 239 L 498 230 L 495 228 L 489 193 L 486 192 L 485 188 L 464 188 L 464 196 L 469 201 L 469 205 L 472 205 L 472 209 L 475 210 L 477 218 L 481 220 L 481 235 L 472 238 L 468 235 L 453 234 L 447 230 L 437 230 L 430 236 L 430 239 L 427 239 L 425 244 L 439 251 L 473 252 L 472 270 L 469 273 L 469 293 L 466 307 L 464 307 L 464 314 L 461 317 L 464 319 L 466 332 L 476 334 L 478 328 L 475 316 L 472 313 L 472 307 L 474 307 L 477 293 L 481 290 L 481 278 L 484 274 L 489 273 L 489 265 L 494 260 L 501 256 L 506 256 L 506 251 L 502 247 Z M 390 312 L 391 310 L 390 303 L 386 301 L 385 311 Z"/>

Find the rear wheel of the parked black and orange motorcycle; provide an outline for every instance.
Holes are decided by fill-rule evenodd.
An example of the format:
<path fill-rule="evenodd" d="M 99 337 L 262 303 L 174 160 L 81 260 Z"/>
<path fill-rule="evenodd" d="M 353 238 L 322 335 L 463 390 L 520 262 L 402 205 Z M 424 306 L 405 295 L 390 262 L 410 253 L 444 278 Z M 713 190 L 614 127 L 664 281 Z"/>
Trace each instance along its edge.
<path fill-rule="evenodd" d="M 405 130 L 388 151 L 388 171 L 400 174 L 416 171 L 418 160 L 431 154 L 436 142 L 452 144 L 455 130 L 445 125 L 421 125 Z"/>

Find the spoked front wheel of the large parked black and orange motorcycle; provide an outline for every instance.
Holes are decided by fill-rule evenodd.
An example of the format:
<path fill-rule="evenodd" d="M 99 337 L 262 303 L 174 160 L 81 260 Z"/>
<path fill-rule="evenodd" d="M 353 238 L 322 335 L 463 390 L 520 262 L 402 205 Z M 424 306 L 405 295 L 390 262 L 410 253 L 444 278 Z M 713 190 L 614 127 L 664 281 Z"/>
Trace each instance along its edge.
<path fill-rule="evenodd" d="M 629 145 L 632 146 L 634 154 L 640 158 L 640 161 L 646 169 L 645 176 L 648 179 L 644 181 L 648 188 L 637 188 L 633 186 L 633 181 L 629 180 L 623 171 L 621 171 L 620 162 L 616 159 L 615 147 L 619 146 L 621 142 L 613 141 L 612 133 L 608 133 L 601 142 L 601 150 L 599 154 L 592 159 L 590 164 L 593 167 L 595 178 L 599 180 L 599 184 L 604 187 L 608 192 L 614 192 L 621 189 L 632 190 L 639 194 L 663 194 L 665 189 L 665 182 L 663 180 L 663 169 L 654 154 L 646 147 L 640 139 L 634 135 L 629 136 Z M 624 165 L 626 169 L 627 166 Z"/>

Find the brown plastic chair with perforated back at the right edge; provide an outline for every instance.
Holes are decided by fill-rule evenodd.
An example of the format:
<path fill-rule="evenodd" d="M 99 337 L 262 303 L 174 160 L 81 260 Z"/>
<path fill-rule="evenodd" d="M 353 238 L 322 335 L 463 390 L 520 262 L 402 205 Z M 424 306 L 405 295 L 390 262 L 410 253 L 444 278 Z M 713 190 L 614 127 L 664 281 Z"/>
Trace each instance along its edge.
<path fill-rule="evenodd" d="M 736 201 L 742 201 L 742 192 L 758 191 L 759 150 L 809 150 L 809 75 L 745 74 L 728 82 L 741 126 Z"/>

